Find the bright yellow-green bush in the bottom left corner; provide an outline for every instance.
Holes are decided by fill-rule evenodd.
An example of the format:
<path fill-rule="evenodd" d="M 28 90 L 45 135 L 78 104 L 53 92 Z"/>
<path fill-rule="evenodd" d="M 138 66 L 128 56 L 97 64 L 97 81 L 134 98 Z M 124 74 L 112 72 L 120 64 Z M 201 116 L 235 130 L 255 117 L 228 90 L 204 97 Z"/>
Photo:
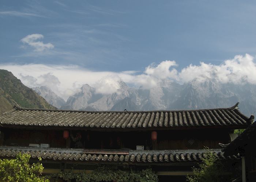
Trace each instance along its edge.
<path fill-rule="evenodd" d="M 0 159 L 0 181 L 48 182 L 48 179 L 41 177 L 44 169 L 42 164 L 30 165 L 30 157 L 29 154 L 18 154 L 16 159 Z"/>

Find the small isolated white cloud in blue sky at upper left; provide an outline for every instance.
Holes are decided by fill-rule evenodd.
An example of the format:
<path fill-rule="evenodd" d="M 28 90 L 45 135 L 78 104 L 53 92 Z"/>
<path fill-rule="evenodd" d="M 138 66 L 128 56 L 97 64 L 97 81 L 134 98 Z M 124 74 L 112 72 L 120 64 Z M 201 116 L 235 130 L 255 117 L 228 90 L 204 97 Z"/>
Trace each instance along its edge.
<path fill-rule="evenodd" d="M 33 47 L 35 51 L 38 51 L 38 52 L 42 52 L 46 49 L 54 48 L 53 44 L 51 43 L 44 44 L 42 41 L 38 41 L 38 39 L 43 39 L 43 38 L 44 38 L 44 35 L 35 33 L 35 34 L 27 35 L 20 41 Z"/>

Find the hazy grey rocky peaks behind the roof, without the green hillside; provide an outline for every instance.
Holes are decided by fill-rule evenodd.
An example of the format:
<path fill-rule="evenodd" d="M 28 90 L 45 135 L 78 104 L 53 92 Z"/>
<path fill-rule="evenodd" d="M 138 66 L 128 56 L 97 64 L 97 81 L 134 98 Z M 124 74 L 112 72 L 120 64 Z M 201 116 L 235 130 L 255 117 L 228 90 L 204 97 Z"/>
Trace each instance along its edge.
<path fill-rule="evenodd" d="M 203 78 L 179 84 L 161 80 L 150 89 L 128 87 L 123 81 L 113 94 L 99 94 L 88 84 L 69 96 L 67 102 L 47 87 L 33 88 L 53 106 L 64 110 L 87 111 L 138 111 L 138 110 L 186 110 L 231 107 L 237 102 L 245 115 L 256 111 L 256 86 L 244 83 L 220 83 Z"/>

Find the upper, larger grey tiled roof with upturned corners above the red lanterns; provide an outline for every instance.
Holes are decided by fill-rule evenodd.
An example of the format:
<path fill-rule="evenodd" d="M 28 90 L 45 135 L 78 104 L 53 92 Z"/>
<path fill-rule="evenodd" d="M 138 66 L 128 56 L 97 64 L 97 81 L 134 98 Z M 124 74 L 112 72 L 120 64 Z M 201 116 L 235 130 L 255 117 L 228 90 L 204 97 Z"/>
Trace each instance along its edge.
<path fill-rule="evenodd" d="M 182 111 L 72 111 L 14 106 L 0 116 L 0 124 L 84 128 L 173 128 L 247 126 L 252 123 L 237 107 Z"/>

